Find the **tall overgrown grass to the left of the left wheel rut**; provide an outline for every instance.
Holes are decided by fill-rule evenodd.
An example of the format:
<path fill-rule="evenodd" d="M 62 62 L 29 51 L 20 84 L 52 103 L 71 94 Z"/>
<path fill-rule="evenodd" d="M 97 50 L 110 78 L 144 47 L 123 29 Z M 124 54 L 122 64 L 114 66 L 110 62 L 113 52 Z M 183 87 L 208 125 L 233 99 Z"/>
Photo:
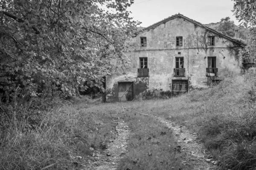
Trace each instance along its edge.
<path fill-rule="evenodd" d="M 77 156 L 112 139 L 111 114 L 87 109 L 85 99 L 75 102 L 36 115 L 17 105 L 1 112 L 0 169 L 77 169 Z"/>

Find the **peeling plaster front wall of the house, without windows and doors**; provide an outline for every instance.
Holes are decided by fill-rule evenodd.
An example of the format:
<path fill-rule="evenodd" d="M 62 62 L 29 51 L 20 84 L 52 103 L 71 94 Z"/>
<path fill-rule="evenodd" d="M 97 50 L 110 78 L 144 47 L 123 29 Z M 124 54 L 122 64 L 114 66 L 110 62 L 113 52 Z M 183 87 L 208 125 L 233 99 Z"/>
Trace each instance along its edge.
<path fill-rule="evenodd" d="M 215 36 L 214 46 L 207 45 L 208 36 Z M 140 37 L 146 37 L 147 46 L 140 46 Z M 183 37 L 183 46 L 176 46 L 176 37 Z M 126 53 L 131 60 L 130 67 L 124 71 L 119 68 L 118 72 L 112 73 L 106 80 L 107 89 L 115 93 L 115 83 L 119 81 L 134 82 L 135 98 L 145 90 L 172 91 L 172 79 L 189 80 L 189 89 L 208 88 L 207 57 L 216 57 L 218 79 L 241 72 L 241 59 L 237 57 L 237 51 L 241 48 L 239 45 L 183 17 L 176 17 L 145 30 L 129 42 L 134 48 L 133 52 Z M 149 77 L 137 77 L 140 57 L 148 57 Z M 184 57 L 185 77 L 174 77 L 175 57 Z M 109 92 L 107 100 L 118 100 L 118 97 L 116 99 L 116 95 Z"/>

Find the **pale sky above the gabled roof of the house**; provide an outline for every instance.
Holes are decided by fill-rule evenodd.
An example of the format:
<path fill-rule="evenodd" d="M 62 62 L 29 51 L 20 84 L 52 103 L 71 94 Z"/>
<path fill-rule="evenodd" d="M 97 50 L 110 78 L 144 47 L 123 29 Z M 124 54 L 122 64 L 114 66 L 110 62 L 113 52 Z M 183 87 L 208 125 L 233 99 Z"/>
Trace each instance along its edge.
<path fill-rule="evenodd" d="M 148 27 L 174 14 L 183 14 L 202 24 L 217 23 L 224 17 L 239 25 L 233 16 L 234 1 L 231 0 L 134 0 L 128 8 L 134 20 Z"/>

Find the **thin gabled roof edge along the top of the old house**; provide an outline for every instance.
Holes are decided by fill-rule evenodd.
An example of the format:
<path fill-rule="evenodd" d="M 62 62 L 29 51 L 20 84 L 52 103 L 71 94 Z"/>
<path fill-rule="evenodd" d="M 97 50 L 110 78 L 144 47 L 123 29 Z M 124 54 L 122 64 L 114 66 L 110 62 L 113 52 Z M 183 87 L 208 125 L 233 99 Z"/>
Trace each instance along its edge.
<path fill-rule="evenodd" d="M 196 25 L 198 25 L 198 26 L 201 26 L 201 27 L 203 27 L 203 28 L 206 28 L 206 29 L 208 29 L 209 31 L 214 32 L 215 34 L 221 35 L 222 37 L 225 37 L 225 38 L 227 38 L 228 40 L 231 40 L 231 41 L 233 41 L 233 42 L 236 42 L 237 44 L 241 45 L 242 47 L 244 47 L 244 46 L 246 45 L 246 44 L 244 44 L 243 42 L 240 42 L 240 41 L 238 41 L 238 40 L 236 40 L 236 39 L 234 39 L 234 38 L 232 38 L 232 37 L 229 37 L 229 36 L 227 36 L 227 35 L 224 35 L 224 34 L 220 33 L 219 31 L 216 31 L 215 29 L 212 29 L 212 28 L 209 28 L 209 27 L 207 27 L 207 26 L 204 26 L 204 24 L 202 24 L 202 23 L 199 23 L 199 22 L 197 22 L 197 21 L 195 21 L 195 20 L 192 20 L 192 19 L 190 19 L 190 18 L 188 18 L 188 17 L 185 17 L 184 15 L 182 15 L 182 14 L 180 14 L 180 13 L 179 13 L 179 14 L 172 15 L 171 17 L 168 17 L 168 18 L 166 18 L 166 19 L 164 19 L 164 20 L 161 20 L 161 21 L 159 21 L 159 22 L 157 22 L 157 23 L 154 23 L 153 25 L 144 28 L 143 31 L 149 30 L 149 29 L 151 29 L 151 28 L 155 28 L 155 27 L 159 26 L 160 24 L 166 23 L 167 21 L 172 20 L 172 19 L 174 19 L 174 18 L 176 18 L 176 17 L 183 17 L 184 19 L 189 20 L 190 22 L 192 22 L 192 23 L 194 23 L 194 24 L 196 24 Z"/>

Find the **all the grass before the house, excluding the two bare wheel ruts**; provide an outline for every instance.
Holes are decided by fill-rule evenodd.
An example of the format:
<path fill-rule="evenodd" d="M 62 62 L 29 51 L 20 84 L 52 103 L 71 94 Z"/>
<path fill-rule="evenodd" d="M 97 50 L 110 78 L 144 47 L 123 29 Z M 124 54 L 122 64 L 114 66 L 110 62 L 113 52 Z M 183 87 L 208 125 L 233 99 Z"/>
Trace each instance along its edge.
<path fill-rule="evenodd" d="M 77 99 L 52 109 L 2 105 L 0 169 L 70 169 L 113 139 L 115 119 L 131 128 L 118 169 L 183 169 L 172 131 L 162 116 L 197 132 L 220 170 L 256 169 L 256 73 L 171 99 L 100 103 Z M 15 116 L 13 116 L 15 115 Z M 160 135 L 166 132 L 166 135 Z M 150 140 L 149 140 L 150 139 Z M 89 164 L 86 160 L 83 164 Z"/>

